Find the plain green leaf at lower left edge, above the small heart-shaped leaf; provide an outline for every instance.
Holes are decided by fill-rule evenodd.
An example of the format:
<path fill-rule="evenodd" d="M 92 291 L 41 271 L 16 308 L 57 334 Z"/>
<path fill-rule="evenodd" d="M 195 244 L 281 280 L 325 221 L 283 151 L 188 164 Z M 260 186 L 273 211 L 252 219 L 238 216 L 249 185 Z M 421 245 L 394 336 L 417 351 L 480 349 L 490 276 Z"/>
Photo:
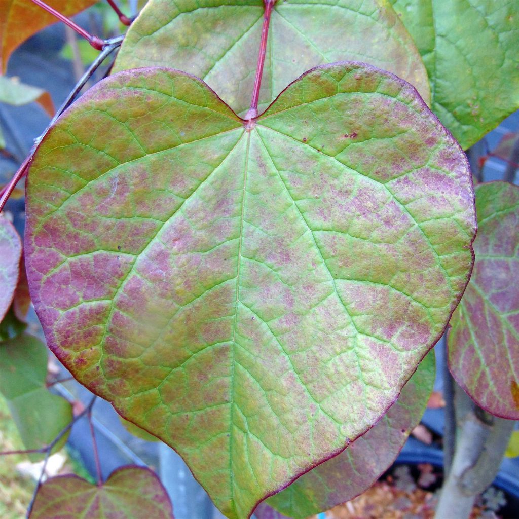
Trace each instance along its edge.
<path fill-rule="evenodd" d="M 70 424 L 72 406 L 45 386 L 48 350 L 36 337 L 20 335 L 0 343 L 0 392 L 25 448 L 50 444 Z M 58 442 L 54 450 L 65 443 Z M 38 459 L 39 455 L 31 455 Z"/>

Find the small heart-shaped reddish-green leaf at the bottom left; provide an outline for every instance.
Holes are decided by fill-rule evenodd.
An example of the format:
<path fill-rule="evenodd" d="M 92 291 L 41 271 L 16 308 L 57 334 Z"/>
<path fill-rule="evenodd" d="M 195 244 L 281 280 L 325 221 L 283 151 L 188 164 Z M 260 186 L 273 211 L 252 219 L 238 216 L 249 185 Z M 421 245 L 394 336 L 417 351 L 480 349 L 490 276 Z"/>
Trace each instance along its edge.
<path fill-rule="evenodd" d="M 58 476 L 38 490 L 30 519 L 173 519 L 166 489 L 142 467 L 112 472 L 101 486 Z"/>

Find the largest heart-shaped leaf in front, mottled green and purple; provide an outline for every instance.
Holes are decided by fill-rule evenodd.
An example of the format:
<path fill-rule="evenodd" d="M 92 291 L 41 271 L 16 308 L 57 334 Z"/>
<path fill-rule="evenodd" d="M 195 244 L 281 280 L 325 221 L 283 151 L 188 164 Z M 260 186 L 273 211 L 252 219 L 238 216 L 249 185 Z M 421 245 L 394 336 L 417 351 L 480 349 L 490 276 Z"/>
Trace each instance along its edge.
<path fill-rule="evenodd" d="M 231 518 L 375 424 L 472 266 L 465 155 L 359 63 L 249 123 L 193 76 L 117 74 L 47 134 L 27 202 L 50 348 Z"/>

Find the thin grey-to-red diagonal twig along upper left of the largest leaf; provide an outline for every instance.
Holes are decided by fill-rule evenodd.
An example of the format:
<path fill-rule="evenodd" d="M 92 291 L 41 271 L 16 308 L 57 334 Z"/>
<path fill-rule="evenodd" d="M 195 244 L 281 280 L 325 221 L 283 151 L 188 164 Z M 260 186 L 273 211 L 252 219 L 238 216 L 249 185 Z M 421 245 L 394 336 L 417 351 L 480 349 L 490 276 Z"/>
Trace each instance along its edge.
<path fill-rule="evenodd" d="M 0 190 L 0 211 L 2 211 L 2 209 L 4 208 L 5 203 L 7 202 L 7 199 L 10 197 L 11 193 L 15 189 L 16 184 L 18 184 L 23 175 L 25 175 L 26 170 L 34 157 L 34 154 L 36 153 L 36 148 L 38 144 L 45 137 L 50 127 L 54 124 L 54 122 L 56 122 L 58 117 L 72 104 L 77 94 L 80 92 L 81 88 L 84 87 L 85 83 L 90 79 L 92 74 L 99 68 L 99 66 L 106 59 L 106 57 L 121 45 L 123 39 L 124 36 L 117 36 L 116 38 L 106 40 L 108 45 L 102 50 L 98 58 L 88 67 L 85 74 L 83 74 L 83 77 L 81 77 L 81 79 L 77 82 L 76 86 L 68 95 L 65 102 L 60 106 L 59 110 L 56 112 L 54 117 L 52 117 L 45 131 L 37 139 L 35 139 L 34 146 L 31 148 L 29 155 L 22 162 L 22 165 L 15 173 L 15 175 L 12 177 L 10 182 L 2 190 Z"/>

